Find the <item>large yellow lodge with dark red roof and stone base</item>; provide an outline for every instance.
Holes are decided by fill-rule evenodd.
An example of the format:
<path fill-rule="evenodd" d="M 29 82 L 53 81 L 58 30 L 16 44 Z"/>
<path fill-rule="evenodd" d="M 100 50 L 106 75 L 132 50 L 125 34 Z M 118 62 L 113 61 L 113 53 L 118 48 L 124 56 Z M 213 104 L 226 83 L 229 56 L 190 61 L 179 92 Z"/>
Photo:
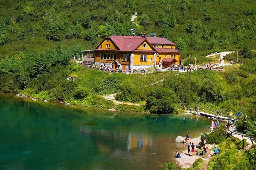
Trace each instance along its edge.
<path fill-rule="evenodd" d="M 143 36 L 106 37 L 94 50 L 82 52 L 84 64 L 104 65 L 108 68 L 131 70 L 167 68 L 180 64 L 180 51 L 166 38 Z"/>

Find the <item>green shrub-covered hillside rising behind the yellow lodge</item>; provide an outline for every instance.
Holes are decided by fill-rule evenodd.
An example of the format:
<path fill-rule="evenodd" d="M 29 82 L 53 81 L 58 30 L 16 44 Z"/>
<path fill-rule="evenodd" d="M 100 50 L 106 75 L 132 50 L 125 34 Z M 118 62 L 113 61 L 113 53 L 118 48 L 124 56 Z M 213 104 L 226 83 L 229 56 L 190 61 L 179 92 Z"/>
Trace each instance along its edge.
<path fill-rule="evenodd" d="M 137 12 L 131 22 L 131 16 Z M 181 58 L 256 46 L 254 0 L 0 0 L 0 56 L 95 48 L 109 35 L 155 33 Z"/>

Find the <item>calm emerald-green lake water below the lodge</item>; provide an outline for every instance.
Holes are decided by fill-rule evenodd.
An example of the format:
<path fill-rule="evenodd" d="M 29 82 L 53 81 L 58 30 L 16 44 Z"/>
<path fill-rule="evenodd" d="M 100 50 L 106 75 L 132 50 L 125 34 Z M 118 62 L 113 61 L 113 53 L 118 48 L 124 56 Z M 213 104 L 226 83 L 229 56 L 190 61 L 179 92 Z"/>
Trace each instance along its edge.
<path fill-rule="evenodd" d="M 176 137 L 198 137 L 209 124 L 189 115 L 183 121 L 181 115 L 79 111 L 0 94 L 0 169 L 163 170 L 175 150 L 185 149 Z"/>

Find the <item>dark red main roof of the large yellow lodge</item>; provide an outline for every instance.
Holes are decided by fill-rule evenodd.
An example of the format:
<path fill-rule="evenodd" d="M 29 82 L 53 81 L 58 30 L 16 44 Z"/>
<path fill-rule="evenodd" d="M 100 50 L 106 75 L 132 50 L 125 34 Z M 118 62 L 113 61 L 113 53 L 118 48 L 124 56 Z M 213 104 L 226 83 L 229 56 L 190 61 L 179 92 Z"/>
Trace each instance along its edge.
<path fill-rule="evenodd" d="M 153 51 L 160 51 L 152 46 L 152 44 L 171 44 L 175 45 L 175 43 L 167 40 L 166 38 L 160 38 L 160 37 L 141 37 L 141 36 L 118 36 L 118 35 L 111 35 L 109 37 L 106 37 L 103 41 L 106 39 L 111 39 L 111 41 L 116 45 L 116 47 L 121 51 L 135 51 L 144 41 L 150 45 Z M 102 42 L 100 44 L 102 44 Z M 100 45 L 99 44 L 99 45 Z M 96 47 L 99 48 L 99 45 Z M 167 49 L 167 48 L 166 48 Z M 169 50 L 172 50 L 168 48 Z M 175 50 L 175 49 L 173 49 Z M 137 50 L 136 50 L 137 51 Z M 176 50 L 177 51 L 177 50 Z M 166 52 L 176 52 L 176 51 L 166 51 Z M 177 51 L 178 52 L 178 51 Z"/>

